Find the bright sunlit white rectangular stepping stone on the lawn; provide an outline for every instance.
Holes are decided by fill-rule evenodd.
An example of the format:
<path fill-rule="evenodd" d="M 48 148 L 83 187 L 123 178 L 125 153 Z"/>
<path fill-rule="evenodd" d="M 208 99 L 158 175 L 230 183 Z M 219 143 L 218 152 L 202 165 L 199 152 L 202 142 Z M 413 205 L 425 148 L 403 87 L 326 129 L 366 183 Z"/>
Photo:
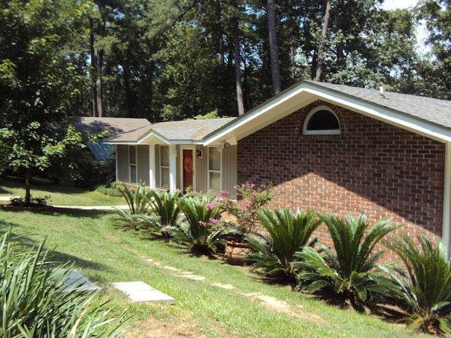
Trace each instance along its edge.
<path fill-rule="evenodd" d="M 166 304 L 175 304 L 175 299 L 163 292 L 154 289 L 144 282 L 118 282 L 113 283 L 113 287 L 127 294 L 128 298 L 137 302 L 159 302 Z"/>

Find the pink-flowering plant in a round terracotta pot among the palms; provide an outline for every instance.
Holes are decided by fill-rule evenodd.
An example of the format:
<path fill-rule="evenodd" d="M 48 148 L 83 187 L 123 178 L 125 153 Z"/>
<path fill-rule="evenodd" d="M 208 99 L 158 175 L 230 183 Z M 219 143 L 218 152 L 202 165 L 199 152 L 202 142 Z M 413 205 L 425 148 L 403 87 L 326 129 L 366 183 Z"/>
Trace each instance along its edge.
<path fill-rule="evenodd" d="M 231 229 L 226 240 L 226 260 L 232 265 L 244 265 L 247 254 L 252 250 L 245 238 L 259 228 L 257 211 L 264 208 L 273 198 L 273 185 L 243 183 L 234 187 L 236 200 L 230 199 L 227 192 L 221 192 L 226 222 Z"/>

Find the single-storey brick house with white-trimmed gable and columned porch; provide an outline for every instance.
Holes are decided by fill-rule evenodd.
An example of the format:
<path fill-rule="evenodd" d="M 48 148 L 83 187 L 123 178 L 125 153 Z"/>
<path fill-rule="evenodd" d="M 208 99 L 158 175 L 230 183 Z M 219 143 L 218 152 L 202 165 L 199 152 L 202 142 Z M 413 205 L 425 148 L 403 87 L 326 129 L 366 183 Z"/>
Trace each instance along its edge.
<path fill-rule="evenodd" d="M 130 146 L 146 145 L 149 186 L 162 187 L 166 170 L 168 189 L 183 188 L 188 149 L 196 160 L 194 189 L 271 181 L 278 188 L 273 208 L 389 218 L 412 237 L 443 237 L 450 249 L 451 101 L 303 81 L 197 138 L 167 124 L 171 137 L 147 130 L 108 140 L 116 144 L 119 180 L 128 182 Z"/>

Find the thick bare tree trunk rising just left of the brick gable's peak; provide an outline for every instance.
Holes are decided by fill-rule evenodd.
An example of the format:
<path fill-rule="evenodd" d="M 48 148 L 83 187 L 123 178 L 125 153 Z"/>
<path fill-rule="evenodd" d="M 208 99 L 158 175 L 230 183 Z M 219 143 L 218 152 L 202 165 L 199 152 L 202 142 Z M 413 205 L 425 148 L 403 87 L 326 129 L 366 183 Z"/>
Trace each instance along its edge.
<path fill-rule="evenodd" d="M 267 11 L 271 75 L 273 77 L 273 93 L 276 95 L 282 92 L 282 84 L 280 80 L 279 48 L 276 35 L 276 5 L 274 4 L 274 0 L 267 1 Z"/>

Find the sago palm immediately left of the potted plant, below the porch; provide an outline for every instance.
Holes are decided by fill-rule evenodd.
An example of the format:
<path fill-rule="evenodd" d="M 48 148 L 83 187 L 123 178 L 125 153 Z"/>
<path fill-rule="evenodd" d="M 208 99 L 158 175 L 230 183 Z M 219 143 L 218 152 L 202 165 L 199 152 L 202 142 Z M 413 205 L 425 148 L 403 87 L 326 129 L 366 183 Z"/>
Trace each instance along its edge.
<path fill-rule="evenodd" d="M 223 209 L 210 195 L 183 196 L 178 207 L 187 221 L 177 227 L 166 228 L 175 240 L 190 246 L 192 251 L 210 253 L 223 242 L 223 231 L 218 227 Z"/>

